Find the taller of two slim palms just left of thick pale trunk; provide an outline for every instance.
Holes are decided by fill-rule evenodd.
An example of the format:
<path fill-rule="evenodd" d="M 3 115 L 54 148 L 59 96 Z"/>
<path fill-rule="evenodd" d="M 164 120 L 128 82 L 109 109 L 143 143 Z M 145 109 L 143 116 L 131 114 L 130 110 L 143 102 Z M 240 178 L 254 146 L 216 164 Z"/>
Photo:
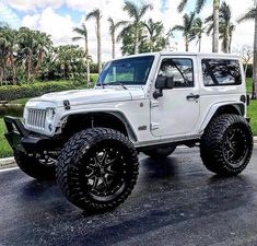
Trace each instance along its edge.
<path fill-rule="evenodd" d="M 186 46 L 186 51 L 189 50 L 189 43 L 195 38 L 195 36 L 192 35 L 192 27 L 195 25 L 195 19 L 196 13 L 195 12 L 190 12 L 189 14 L 184 14 L 183 16 L 183 25 L 175 25 L 172 28 L 173 31 L 178 31 L 178 32 L 183 32 L 183 36 L 185 38 L 185 46 Z"/>

